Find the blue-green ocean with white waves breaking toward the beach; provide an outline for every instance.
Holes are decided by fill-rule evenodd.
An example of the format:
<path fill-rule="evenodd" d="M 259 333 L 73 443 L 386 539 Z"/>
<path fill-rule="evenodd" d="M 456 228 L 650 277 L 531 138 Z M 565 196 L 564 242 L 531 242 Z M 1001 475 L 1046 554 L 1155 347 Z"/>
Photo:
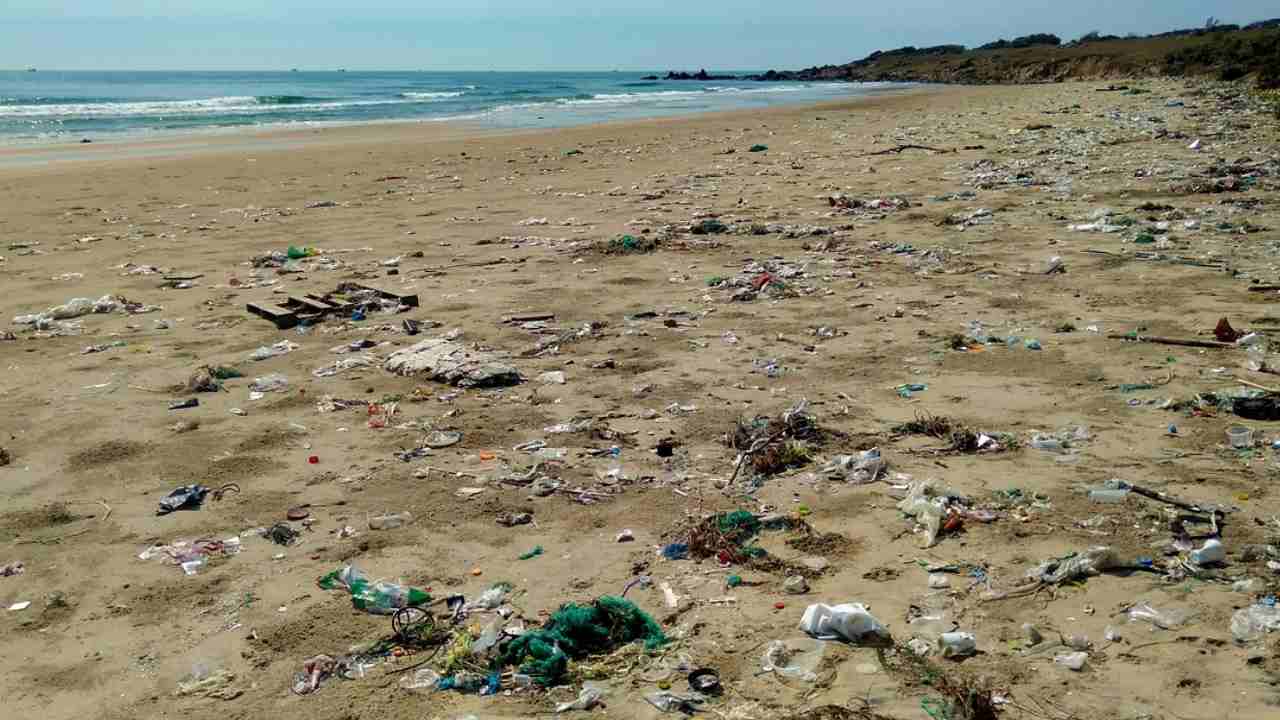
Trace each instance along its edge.
<path fill-rule="evenodd" d="M 0 143 L 288 124 L 563 127 L 814 102 L 882 83 L 652 81 L 644 73 L 0 72 Z"/>

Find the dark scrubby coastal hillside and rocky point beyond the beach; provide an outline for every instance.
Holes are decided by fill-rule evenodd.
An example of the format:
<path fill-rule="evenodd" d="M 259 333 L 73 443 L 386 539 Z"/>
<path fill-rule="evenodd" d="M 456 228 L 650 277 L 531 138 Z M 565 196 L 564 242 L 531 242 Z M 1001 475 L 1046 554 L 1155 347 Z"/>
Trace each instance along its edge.
<path fill-rule="evenodd" d="M 1280 19 L 1244 27 L 1211 20 L 1204 28 L 1146 37 L 1089 33 L 1066 44 L 1042 33 L 974 49 L 900 47 L 844 65 L 769 70 L 750 79 L 1010 85 L 1189 76 L 1251 78 L 1262 88 L 1280 87 Z M 698 74 L 668 77 L 696 79 Z"/>

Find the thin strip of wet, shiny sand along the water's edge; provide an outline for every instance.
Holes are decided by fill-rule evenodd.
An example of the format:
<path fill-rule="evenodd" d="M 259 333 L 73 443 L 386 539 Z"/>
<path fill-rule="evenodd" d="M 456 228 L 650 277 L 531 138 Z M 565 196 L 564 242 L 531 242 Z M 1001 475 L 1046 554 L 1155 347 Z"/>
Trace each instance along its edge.
<path fill-rule="evenodd" d="M 948 86 L 951 88 L 957 86 Z M 165 159 L 204 155 L 209 152 L 273 151 L 297 150 L 303 147 L 333 145 L 353 145 L 361 142 L 380 142 L 388 136 L 406 135 L 431 141 L 458 141 L 477 137 L 507 137 L 539 135 L 582 128 L 648 127 L 650 123 L 668 124 L 682 120 L 716 117 L 762 117 L 778 113 L 792 113 L 806 109 L 838 110 L 849 105 L 863 105 L 883 97 L 899 97 L 920 92 L 940 92 L 943 86 L 910 83 L 908 87 L 869 88 L 865 94 L 851 95 L 836 100 L 818 102 L 782 104 L 768 108 L 733 108 L 707 110 L 687 114 L 653 115 L 643 118 L 622 118 L 608 120 L 588 120 L 582 123 L 557 124 L 549 127 L 485 127 L 475 118 L 448 119 L 390 119 L 361 122 L 320 122 L 320 123 L 279 123 L 274 126 L 239 126 L 229 128 L 182 129 L 165 132 L 163 136 L 125 137 L 106 136 L 90 143 L 68 141 L 65 143 L 0 145 L 0 173 L 65 163 L 104 163 L 128 159 Z M 375 135 L 376 129 L 376 136 Z M 422 132 L 428 131 L 428 132 Z M 108 155 L 108 156 L 104 156 Z"/>

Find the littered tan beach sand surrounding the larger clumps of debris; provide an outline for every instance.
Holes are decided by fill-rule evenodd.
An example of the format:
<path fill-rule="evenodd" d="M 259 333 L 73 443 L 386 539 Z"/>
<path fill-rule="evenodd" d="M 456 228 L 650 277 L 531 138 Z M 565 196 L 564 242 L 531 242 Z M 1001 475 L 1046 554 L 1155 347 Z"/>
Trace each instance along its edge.
<path fill-rule="evenodd" d="M 1239 647 L 1229 630 L 1236 609 L 1276 585 L 1265 555 L 1244 552 L 1267 542 L 1268 529 L 1275 539 L 1272 427 L 1247 423 L 1263 445 L 1240 454 L 1224 434 L 1238 418 L 1156 402 L 1242 389 L 1233 378 L 1280 380 L 1244 370 L 1243 350 L 1126 343 L 1106 333 L 1212 340 L 1221 316 L 1236 328 L 1267 324 L 1274 293 L 1247 284 L 1275 279 L 1276 234 L 1239 229 L 1280 227 L 1275 177 L 1247 192 L 1178 187 L 1215 159 L 1275 168 L 1276 124 L 1221 100 L 1219 86 L 1147 82 L 1146 95 L 1096 87 L 929 88 L 521 133 L 378 126 L 5 151 L 5 324 L 73 297 L 161 307 L 84 315 L 74 320 L 82 333 L 63 337 L 14 325 L 15 340 L 0 341 L 0 446 L 12 455 L 0 468 L 0 564 L 26 564 L 24 574 L 0 578 L 0 605 L 31 602 L 0 612 L 8 715 L 489 719 L 544 714 L 576 697 L 577 685 L 498 697 L 402 689 L 403 674 L 388 673 L 421 656 L 293 694 L 303 660 L 390 632 L 387 618 L 316 587 L 348 562 L 438 597 L 474 600 L 509 582 L 526 628 L 563 602 L 617 594 L 632 577 L 652 575 L 652 587 L 627 597 L 676 639 L 660 657 L 625 653 L 598 666 L 611 694 L 596 712 L 608 717 L 659 716 L 643 696 L 666 676 L 672 691 L 686 691 L 685 673 L 672 670 L 681 659 L 718 670 L 726 693 L 712 707 L 721 717 L 858 717 L 805 711 L 863 703 L 888 717 L 923 717 L 922 701 L 940 697 L 938 683 L 887 671 L 874 650 L 827 643 L 815 683 L 760 673 L 771 641 L 814 644 L 797 629 L 810 602 L 867 603 L 904 642 L 908 619 L 941 603 L 957 629 L 974 633 L 980 653 L 937 660 L 940 667 L 995 688 L 1007 700 L 1006 717 L 1275 714 L 1276 641 Z M 1166 108 L 1170 97 L 1187 108 Z M 1051 127 L 1027 129 L 1034 126 Z M 1157 137 L 1160 127 L 1187 137 Z M 1194 138 L 1203 138 L 1199 151 L 1188 149 Z M 758 143 L 768 150 L 750 152 Z M 872 155 L 908 143 L 955 151 Z M 965 191 L 975 195 L 934 200 Z M 909 206 L 837 210 L 832 193 L 905 197 Z M 1144 202 L 1175 210 L 1137 210 Z M 1094 222 L 1100 208 L 1142 225 L 1172 218 L 1169 240 L 1144 246 L 1133 243 L 1134 228 L 1068 229 Z M 762 225 L 762 234 L 678 229 L 713 215 L 732 228 Z M 1187 220 L 1198 227 L 1187 229 Z M 622 233 L 666 241 L 649 254 L 596 250 Z M 289 246 L 323 254 L 301 273 L 252 266 Z M 1135 259 L 1144 250 L 1199 264 Z M 1044 273 L 1052 256 L 1065 273 Z M 772 279 L 787 291 L 748 299 L 709 283 L 742 273 L 756 279 L 751 265 L 773 261 L 783 265 L 773 265 Z M 138 274 L 148 265 L 164 273 Z M 163 274 L 200 277 L 173 288 Z M 332 319 L 306 334 L 246 313 L 247 302 L 323 293 L 344 281 L 416 293 L 420 306 Z M 544 327 L 504 322 L 524 314 L 554 318 Z M 439 327 L 408 337 L 404 318 Z M 972 320 L 1043 348 L 952 348 Z M 458 392 L 376 364 L 312 374 L 352 357 L 335 346 L 367 338 L 379 345 L 365 352 L 381 359 L 451 331 L 498 352 L 527 382 Z M 529 352 L 561 333 L 558 351 Z M 284 340 L 298 348 L 248 360 Z M 97 345 L 108 347 L 82 354 Z M 206 364 L 244 378 L 227 380 L 223 392 L 168 389 Z M 564 384 L 540 379 L 548 372 L 563 372 Z M 288 389 L 250 400 L 252 379 L 271 373 L 284 374 Z M 908 383 L 927 389 L 902 397 L 895 388 Z M 1121 383 L 1149 387 L 1123 392 Z M 397 414 L 390 427 L 372 428 L 362 405 L 319 411 L 325 396 L 396 401 Z M 198 397 L 198 407 L 168 409 L 186 397 Z M 803 398 L 840 436 L 809 466 L 764 479 L 753 496 L 741 484 L 726 489 L 736 452 L 724 437 L 737 419 L 776 416 Z M 938 450 L 946 438 L 891 430 L 925 414 L 1014 433 L 1021 447 L 946 452 Z M 586 416 L 612 432 L 544 430 Z M 173 429 L 187 420 L 198 427 Z M 1075 427 L 1088 439 L 1070 455 L 1029 447 L 1037 430 Z M 434 429 L 458 430 L 462 441 L 411 462 L 397 457 Z M 678 441 L 669 459 L 653 451 L 666 437 Z M 591 495 L 535 497 L 495 479 L 530 468 L 534 456 L 513 448 L 536 439 L 567 448 L 549 466 L 562 488 Z M 617 459 L 588 454 L 611 446 L 621 448 Z M 813 475 L 835 455 L 872 447 L 892 473 L 937 478 L 977 505 L 1004 497 L 993 506 L 998 518 L 968 520 L 924 548 L 896 509 L 892 477 L 858 486 Z M 614 468 L 622 478 L 602 478 Z M 982 601 L 983 578 L 1012 587 L 1041 561 L 1092 546 L 1162 566 L 1165 506 L 1091 503 L 1085 489 L 1110 478 L 1233 507 L 1222 533 L 1229 561 L 1219 570 L 1226 582 L 1103 574 Z M 236 483 L 239 492 L 156 516 L 161 497 L 191 483 Z M 1015 488 L 1023 503 L 1009 501 L 1005 491 Z M 157 543 L 270 527 L 302 503 L 314 506 L 314 524 L 294 523 L 302 534 L 291 547 L 243 534 L 238 555 L 191 577 L 138 557 Z M 657 552 L 682 539 L 690 516 L 801 507 L 819 534 L 764 532 L 760 544 L 790 566 L 808 556 L 827 561 L 808 573 L 804 596 L 783 592 L 790 570 L 666 561 Z M 370 529 L 370 515 L 401 510 L 412 512 L 411 524 Z M 535 524 L 495 521 L 524 511 Z M 344 527 L 355 537 L 339 537 Z M 635 542 L 614 542 L 623 529 Z M 517 560 L 535 546 L 544 553 Z M 950 589 L 928 589 L 929 565 L 956 568 Z M 731 574 L 744 584 L 727 588 Z M 1231 589 L 1243 578 L 1257 578 L 1253 592 Z M 681 596 L 677 610 L 664 605 L 663 583 Z M 724 597 L 735 602 L 709 602 Z M 1193 616 L 1175 629 L 1130 624 L 1126 610 L 1139 602 Z M 1024 652 L 1024 623 L 1048 638 L 1038 652 Z M 1123 639 L 1105 639 L 1108 626 Z M 1055 664 L 1065 652 L 1053 648 L 1060 634 L 1092 642 L 1083 671 Z M 234 675 L 233 700 L 177 694 L 192 673 L 218 670 Z"/>

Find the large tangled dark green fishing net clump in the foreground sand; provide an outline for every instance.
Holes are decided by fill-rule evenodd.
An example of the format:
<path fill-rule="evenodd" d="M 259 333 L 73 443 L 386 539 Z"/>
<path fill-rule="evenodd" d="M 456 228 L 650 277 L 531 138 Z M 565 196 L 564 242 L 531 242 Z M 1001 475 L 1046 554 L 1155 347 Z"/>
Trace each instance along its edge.
<path fill-rule="evenodd" d="M 667 637 L 630 600 L 603 596 L 591 605 L 564 603 L 540 629 L 511 641 L 499 662 L 518 665 L 539 684 L 550 685 L 564 675 L 570 659 L 609 652 L 635 641 L 654 650 L 666 644 Z"/>

